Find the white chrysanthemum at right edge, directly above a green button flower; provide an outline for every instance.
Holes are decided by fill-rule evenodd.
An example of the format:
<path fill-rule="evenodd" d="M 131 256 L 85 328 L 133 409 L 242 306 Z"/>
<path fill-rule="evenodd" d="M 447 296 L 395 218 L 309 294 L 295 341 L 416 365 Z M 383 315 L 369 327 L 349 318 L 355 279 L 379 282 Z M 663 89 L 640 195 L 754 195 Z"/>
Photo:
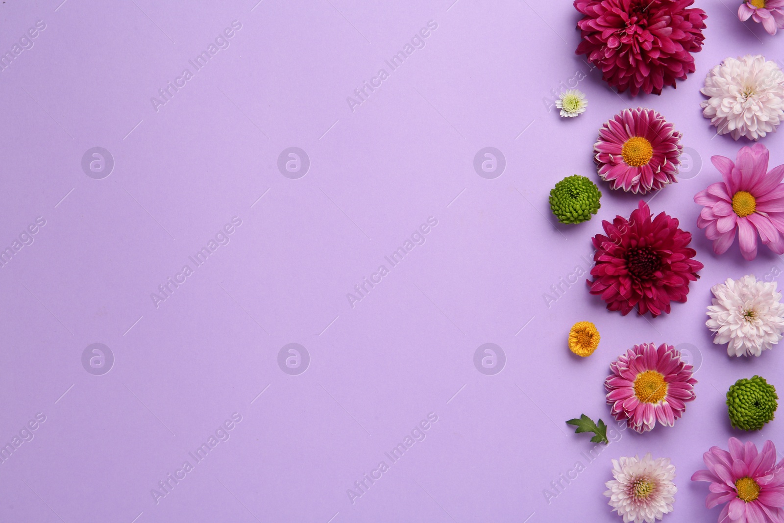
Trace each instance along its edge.
<path fill-rule="evenodd" d="M 784 303 L 776 282 L 757 281 L 753 274 L 727 278 L 713 285 L 713 305 L 708 307 L 708 329 L 713 343 L 727 345 L 730 356 L 759 356 L 779 343 L 784 332 Z"/>

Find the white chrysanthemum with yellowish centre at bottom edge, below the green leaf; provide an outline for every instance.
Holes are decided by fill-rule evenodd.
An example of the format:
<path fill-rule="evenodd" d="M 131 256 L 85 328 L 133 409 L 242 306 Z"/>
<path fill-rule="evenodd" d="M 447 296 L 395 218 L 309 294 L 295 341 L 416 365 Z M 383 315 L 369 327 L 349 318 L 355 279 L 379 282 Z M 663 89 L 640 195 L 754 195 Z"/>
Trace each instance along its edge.
<path fill-rule="evenodd" d="M 652 459 L 648 452 L 643 459 L 637 456 L 612 460 L 612 476 L 604 485 L 608 504 L 623 517 L 623 523 L 654 523 L 673 511 L 675 466 L 670 458 Z"/>

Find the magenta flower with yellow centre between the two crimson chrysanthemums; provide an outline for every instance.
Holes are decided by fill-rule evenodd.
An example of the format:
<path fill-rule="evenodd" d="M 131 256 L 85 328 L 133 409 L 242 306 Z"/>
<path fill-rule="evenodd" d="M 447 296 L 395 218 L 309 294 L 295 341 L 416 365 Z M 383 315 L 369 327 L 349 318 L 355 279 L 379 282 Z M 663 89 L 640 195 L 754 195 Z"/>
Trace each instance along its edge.
<path fill-rule="evenodd" d="M 601 179 L 612 189 L 645 194 L 677 182 L 680 132 L 652 109 L 624 109 L 599 129 L 593 144 Z"/>

